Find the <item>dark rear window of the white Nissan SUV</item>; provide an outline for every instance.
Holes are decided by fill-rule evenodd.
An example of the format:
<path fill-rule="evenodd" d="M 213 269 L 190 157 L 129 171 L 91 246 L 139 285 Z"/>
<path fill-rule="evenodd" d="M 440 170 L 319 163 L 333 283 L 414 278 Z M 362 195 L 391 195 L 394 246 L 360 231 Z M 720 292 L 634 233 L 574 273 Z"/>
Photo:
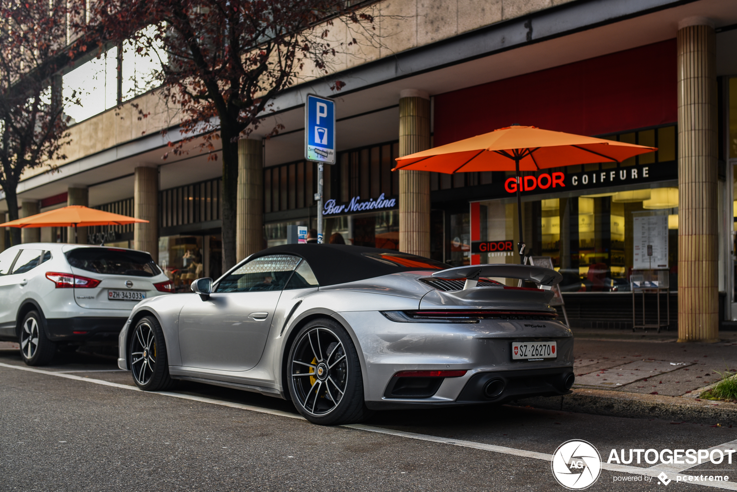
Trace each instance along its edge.
<path fill-rule="evenodd" d="M 78 247 L 66 253 L 72 267 L 108 275 L 153 277 L 161 273 L 148 253 L 109 247 Z"/>

